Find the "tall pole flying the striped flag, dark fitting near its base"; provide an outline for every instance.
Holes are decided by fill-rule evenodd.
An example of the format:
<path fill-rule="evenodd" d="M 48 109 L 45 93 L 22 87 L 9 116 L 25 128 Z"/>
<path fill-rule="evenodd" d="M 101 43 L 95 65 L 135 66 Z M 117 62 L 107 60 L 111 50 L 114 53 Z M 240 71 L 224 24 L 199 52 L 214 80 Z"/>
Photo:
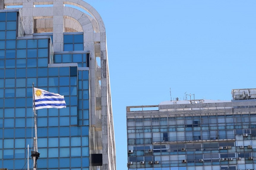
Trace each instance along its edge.
<path fill-rule="evenodd" d="M 37 152 L 37 115 L 36 115 L 36 106 L 35 106 L 35 91 L 34 91 L 34 82 L 33 86 L 33 110 L 34 110 L 34 122 L 35 122 L 35 137 L 34 137 L 34 151 L 31 151 L 31 156 L 33 157 L 33 170 L 37 170 L 37 159 L 40 153 Z"/>

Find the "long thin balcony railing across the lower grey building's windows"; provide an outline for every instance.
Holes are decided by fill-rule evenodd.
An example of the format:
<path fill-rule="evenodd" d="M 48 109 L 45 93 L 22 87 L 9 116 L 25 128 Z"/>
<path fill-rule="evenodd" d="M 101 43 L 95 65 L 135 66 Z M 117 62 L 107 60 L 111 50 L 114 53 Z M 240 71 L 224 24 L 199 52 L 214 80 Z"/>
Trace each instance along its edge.
<path fill-rule="evenodd" d="M 153 142 L 175 142 L 175 141 L 219 140 L 219 139 L 235 139 L 235 135 L 153 137 Z"/>

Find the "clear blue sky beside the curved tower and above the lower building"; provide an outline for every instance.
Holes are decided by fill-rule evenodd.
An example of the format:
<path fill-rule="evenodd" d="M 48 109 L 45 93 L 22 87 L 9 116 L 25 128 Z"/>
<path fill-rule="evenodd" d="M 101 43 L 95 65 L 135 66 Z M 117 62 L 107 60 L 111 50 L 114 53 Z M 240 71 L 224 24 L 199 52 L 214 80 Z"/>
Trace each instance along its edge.
<path fill-rule="evenodd" d="M 255 0 L 85 0 L 107 33 L 117 170 L 127 169 L 126 106 L 172 97 L 231 100 L 256 88 Z"/>

